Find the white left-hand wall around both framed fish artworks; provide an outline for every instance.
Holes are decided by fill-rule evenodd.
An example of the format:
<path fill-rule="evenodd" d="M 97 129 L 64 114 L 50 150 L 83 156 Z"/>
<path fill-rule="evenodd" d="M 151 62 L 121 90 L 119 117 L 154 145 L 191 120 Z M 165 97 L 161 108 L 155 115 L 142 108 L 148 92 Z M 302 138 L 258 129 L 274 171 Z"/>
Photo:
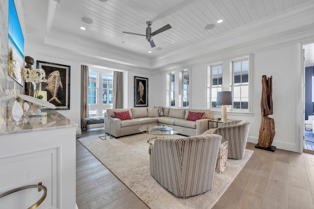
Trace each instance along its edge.
<path fill-rule="evenodd" d="M 127 79 L 125 84 L 127 85 L 127 93 L 125 93 L 125 108 L 134 107 L 134 76 L 146 77 L 148 78 L 148 88 L 149 88 L 149 106 L 154 106 L 154 102 L 151 101 L 151 98 L 154 98 L 154 85 L 151 85 L 151 76 L 149 70 L 140 71 L 137 69 L 132 69 L 131 67 L 126 67 L 124 65 L 112 64 L 105 61 L 93 60 L 84 56 L 69 54 L 63 50 L 56 49 L 55 47 L 50 47 L 46 45 L 45 47 L 38 46 L 25 46 L 25 55 L 31 56 L 34 58 L 33 68 L 36 68 L 36 61 L 45 61 L 51 63 L 57 63 L 62 65 L 71 66 L 70 70 L 70 110 L 60 110 L 58 111 L 62 115 L 70 118 L 74 122 L 78 123 L 80 127 L 80 66 L 81 65 L 90 65 L 91 69 L 99 67 L 105 67 L 109 70 L 122 70 L 125 71 Z M 108 67 L 109 66 L 109 67 Z"/>

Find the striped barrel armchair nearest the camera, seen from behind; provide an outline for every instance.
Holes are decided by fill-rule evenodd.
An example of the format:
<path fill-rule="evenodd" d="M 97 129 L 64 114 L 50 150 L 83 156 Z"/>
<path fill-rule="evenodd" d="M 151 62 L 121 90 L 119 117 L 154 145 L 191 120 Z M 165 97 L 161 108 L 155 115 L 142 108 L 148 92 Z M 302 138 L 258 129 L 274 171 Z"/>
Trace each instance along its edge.
<path fill-rule="evenodd" d="M 151 175 L 177 197 L 209 191 L 221 139 L 219 135 L 156 139 L 149 147 Z"/>

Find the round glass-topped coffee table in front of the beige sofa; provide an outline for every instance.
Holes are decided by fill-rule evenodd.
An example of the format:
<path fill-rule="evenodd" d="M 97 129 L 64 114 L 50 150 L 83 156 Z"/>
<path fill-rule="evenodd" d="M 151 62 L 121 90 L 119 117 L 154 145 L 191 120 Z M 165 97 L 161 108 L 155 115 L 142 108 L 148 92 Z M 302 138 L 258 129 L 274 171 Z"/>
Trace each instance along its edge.
<path fill-rule="evenodd" d="M 169 127 L 164 125 L 144 125 L 138 129 L 140 132 L 144 134 L 151 134 L 155 135 L 155 137 L 152 137 L 151 139 L 147 139 L 147 143 L 152 144 L 152 139 L 157 138 L 166 138 L 166 136 L 173 136 L 175 134 L 180 134 L 183 132 L 183 128 L 181 127 Z"/>

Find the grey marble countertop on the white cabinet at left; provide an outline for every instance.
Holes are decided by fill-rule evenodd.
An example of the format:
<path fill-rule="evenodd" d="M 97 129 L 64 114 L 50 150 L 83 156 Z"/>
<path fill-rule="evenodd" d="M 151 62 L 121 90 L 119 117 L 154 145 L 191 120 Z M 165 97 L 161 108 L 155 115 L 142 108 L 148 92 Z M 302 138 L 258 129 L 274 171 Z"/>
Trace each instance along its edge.
<path fill-rule="evenodd" d="M 8 125 L 0 129 L 0 136 L 78 126 L 77 123 L 55 110 L 47 110 L 43 113 L 43 116 L 22 117 L 18 125 L 8 122 Z"/>

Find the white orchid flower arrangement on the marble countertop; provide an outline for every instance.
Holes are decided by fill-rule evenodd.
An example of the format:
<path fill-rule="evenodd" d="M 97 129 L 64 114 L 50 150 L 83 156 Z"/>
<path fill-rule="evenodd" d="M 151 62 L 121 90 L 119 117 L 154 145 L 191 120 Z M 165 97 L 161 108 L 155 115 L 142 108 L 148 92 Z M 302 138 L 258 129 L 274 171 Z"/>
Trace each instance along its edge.
<path fill-rule="evenodd" d="M 39 69 L 26 69 L 23 68 L 23 79 L 26 83 L 29 83 L 29 95 L 31 95 L 31 87 L 30 85 L 33 84 L 34 91 L 33 96 L 39 99 L 42 99 L 42 95 L 38 95 L 39 86 L 42 82 L 47 82 L 46 79 L 46 72 L 45 70 Z"/>

